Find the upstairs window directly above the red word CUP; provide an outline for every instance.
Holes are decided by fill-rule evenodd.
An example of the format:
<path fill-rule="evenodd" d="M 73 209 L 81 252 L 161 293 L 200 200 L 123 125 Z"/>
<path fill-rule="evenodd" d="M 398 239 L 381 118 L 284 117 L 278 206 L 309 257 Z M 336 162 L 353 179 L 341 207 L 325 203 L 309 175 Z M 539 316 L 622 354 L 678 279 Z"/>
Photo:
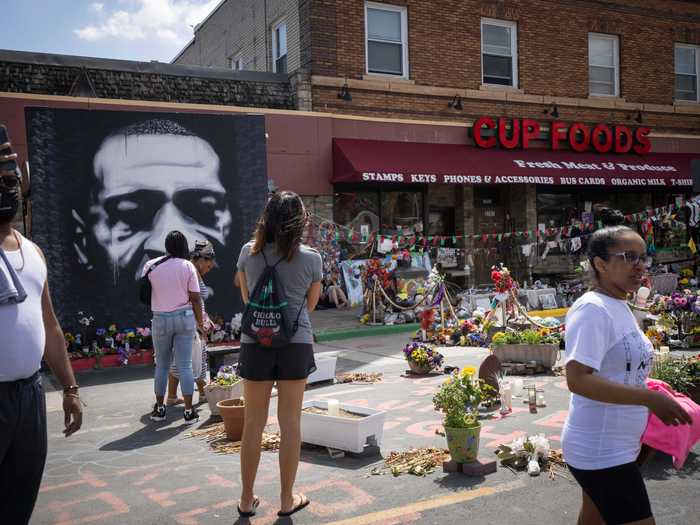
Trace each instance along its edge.
<path fill-rule="evenodd" d="M 481 82 L 518 87 L 518 26 L 481 19 Z"/>

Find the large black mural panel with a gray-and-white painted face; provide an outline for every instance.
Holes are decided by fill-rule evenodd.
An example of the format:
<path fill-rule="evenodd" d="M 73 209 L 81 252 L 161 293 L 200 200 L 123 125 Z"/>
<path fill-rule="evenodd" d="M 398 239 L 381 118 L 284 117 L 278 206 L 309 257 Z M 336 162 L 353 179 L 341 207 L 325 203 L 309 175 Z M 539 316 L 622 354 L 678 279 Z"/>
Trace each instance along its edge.
<path fill-rule="evenodd" d="M 77 311 L 146 324 L 136 279 L 171 230 L 214 245 L 209 313 L 241 311 L 235 260 L 267 195 L 262 116 L 30 109 L 27 127 L 32 233 L 62 263 L 50 281 L 64 324 Z"/>

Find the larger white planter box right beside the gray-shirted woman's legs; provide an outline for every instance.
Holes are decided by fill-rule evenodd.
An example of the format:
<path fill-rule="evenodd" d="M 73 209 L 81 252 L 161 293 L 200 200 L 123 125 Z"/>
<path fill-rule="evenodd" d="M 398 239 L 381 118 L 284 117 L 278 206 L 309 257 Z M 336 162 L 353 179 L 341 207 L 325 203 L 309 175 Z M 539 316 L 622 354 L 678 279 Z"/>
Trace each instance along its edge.
<path fill-rule="evenodd" d="M 306 401 L 302 406 L 301 440 L 304 443 L 357 454 L 365 449 L 366 444 L 381 445 L 386 414 L 383 410 L 341 403 L 341 409 L 367 416 L 362 419 L 350 419 L 303 412 L 303 409 L 308 407 L 327 409 L 328 402 Z"/>

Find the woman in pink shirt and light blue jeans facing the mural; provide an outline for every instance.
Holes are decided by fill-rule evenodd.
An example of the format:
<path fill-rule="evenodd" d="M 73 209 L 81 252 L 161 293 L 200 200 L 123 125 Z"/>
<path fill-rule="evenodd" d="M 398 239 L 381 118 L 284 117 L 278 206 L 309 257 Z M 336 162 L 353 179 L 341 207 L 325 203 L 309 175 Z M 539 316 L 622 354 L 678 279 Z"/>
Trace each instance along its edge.
<path fill-rule="evenodd" d="M 192 407 L 192 343 L 195 330 L 204 332 L 199 278 L 189 261 L 187 239 L 181 232 L 171 231 L 168 234 L 165 251 L 167 255 L 151 259 L 143 269 L 143 275 L 148 275 L 152 288 L 152 336 L 156 351 L 156 404 L 153 405 L 151 419 L 165 421 L 163 399 L 168 384 L 168 369 L 174 358 L 185 399 L 185 424 L 191 425 L 199 421 L 197 410 Z"/>

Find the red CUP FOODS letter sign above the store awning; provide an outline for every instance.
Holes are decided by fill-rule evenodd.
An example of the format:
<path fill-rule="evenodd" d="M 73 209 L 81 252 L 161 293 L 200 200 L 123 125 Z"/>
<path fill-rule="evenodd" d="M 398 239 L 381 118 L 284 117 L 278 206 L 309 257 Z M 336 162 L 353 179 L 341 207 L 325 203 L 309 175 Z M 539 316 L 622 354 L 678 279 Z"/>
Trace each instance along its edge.
<path fill-rule="evenodd" d="M 485 133 L 486 131 L 489 133 Z M 481 148 L 500 146 L 505 149 L 528 149 L 530 141 L 540 138 L 540 125 L 532 119 L 504 119 L 496 122 L 491 117 L 481 117 L 472 126 L 472 137 Z M 636 153 L 645 155 L 651 151 L 648 135 L 651 128 L 630 129 L 627 126 L 607 124 L 587 125 L 580 122 L 567 124 L 555 120 L 550 124 L 549 145 L 553 150 L 564 144 L 579 153 Z"/>

